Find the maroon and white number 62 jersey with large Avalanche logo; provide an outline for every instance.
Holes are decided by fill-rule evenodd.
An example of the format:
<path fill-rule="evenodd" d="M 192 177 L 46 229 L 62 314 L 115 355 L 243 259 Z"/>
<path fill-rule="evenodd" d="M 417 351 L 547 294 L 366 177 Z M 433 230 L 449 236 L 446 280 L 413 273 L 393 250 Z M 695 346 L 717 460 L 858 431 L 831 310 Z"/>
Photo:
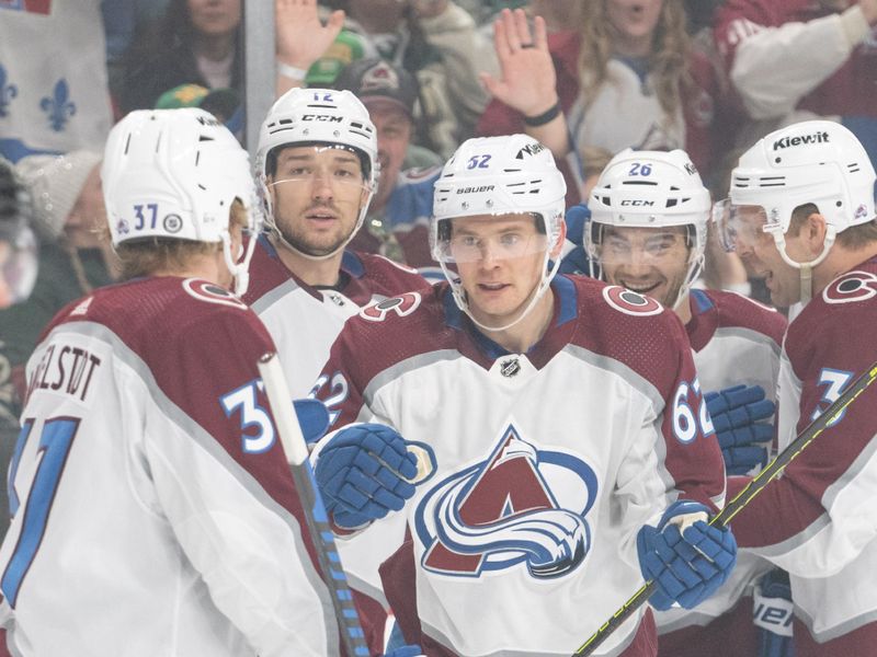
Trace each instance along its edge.
<path fill-rule="evenodd" d="M 379 422 L 434 470 L 381 567 L 408 642 L 430 655 L 569 655 L 641 585 L 635 539 L 677 497 L 720 506 L 725 476 L 679 320 L 650 299 L 558 276 L 527 354 L 472 330 L 447 284 L 364 309 L 317 390 L 338 425 Z M 398 535 L 383 521 L 391 551 Z M 651 655 L 640 609 L 600 655 Z"/>

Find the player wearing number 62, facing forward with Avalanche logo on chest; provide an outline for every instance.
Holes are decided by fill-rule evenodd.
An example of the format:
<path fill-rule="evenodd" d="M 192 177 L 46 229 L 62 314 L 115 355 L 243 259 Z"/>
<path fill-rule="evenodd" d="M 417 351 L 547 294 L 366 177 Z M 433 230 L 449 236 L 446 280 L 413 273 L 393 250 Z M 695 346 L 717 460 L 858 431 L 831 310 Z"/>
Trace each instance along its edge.
<path fill-rule="evenodd" d="M 682 325 L 554 276 L 565 193 L 532 138 L 466 141 L 435 187 L 447 283 L 351 319 L 323 369 L 344 394 L 317 390 L 343 427 L 315 454 L 327 508 L 340 532 L 406 519 L 381 575 L 430 655 L 569 655 L 643 576 L 694 607 L 733 563 L 730 532 L 677 527 L 725 488 Z M 600 654 L 654 644 L 642 610 Z"/>

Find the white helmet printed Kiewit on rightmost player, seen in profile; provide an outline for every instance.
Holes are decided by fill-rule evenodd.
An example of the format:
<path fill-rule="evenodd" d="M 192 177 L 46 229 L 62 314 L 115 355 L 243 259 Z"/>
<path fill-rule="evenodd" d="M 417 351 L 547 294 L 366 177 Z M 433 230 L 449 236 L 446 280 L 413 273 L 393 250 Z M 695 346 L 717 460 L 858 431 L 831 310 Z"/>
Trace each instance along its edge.
<path fill-rule="evenodd" d="M 714 206 L 722 245 L 733 251 L 743 222 L 740 208 L 763 210 L 763 227 L 783 260 L 801 270 L 802 301 L 810 298 L 811 269 L 821 263 L 836 234 L 875 218 L 875 171 L 855 135 L 830 120 L 793 124 L 760 139 L 731 173 L 730 198 Z M 825 218 L 822 253 L 798 263 L 786 253 L 793 211 L 815 204 Z"/>

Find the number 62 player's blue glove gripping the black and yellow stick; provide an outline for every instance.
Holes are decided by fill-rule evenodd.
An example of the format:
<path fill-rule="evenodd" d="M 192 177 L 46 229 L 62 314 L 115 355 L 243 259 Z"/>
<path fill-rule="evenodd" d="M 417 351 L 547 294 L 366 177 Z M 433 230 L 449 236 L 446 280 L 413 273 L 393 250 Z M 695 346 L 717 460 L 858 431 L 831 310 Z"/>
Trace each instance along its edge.
<path fill-rule="evenodd" d="M 675 502 L 658 527 L 645 525 L 637 534 L 639 569 L 658 585 L 649 603 L 658 610 L 679 602 L 693 609 L 711 596 L 730 575 L 737 562 L 737 541 L 730 528 L 710 527 L 696 519 L 680 531 L 684 516 L 707 517 L 697 502 Z M 688 518 L 690 520 L 691 518 Z"/>

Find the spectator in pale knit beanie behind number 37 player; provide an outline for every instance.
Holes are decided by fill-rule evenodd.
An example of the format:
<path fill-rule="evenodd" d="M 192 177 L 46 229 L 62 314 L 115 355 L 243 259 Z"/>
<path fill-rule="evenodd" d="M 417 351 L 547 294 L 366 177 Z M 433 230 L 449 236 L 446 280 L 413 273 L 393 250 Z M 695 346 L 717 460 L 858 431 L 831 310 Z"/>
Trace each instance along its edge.
<path fill-rule="evenodd" d="M 39 272 L 31 296 L 0 310 L 0 440 L 14 441 L 24 365 L 43 327 L 64 306 L 115 277 L 115 256 L 102 241 L 106 210 L 101 193 L 102 155 L 30 155 L 15 166 L 33 199 L 39 238 Z M 106 245 L 104 245 L 106 244 Z M 5 518 L 5 516 L 2 516 Z M 5 525 L 0 526 L 0 532 Z"/>

